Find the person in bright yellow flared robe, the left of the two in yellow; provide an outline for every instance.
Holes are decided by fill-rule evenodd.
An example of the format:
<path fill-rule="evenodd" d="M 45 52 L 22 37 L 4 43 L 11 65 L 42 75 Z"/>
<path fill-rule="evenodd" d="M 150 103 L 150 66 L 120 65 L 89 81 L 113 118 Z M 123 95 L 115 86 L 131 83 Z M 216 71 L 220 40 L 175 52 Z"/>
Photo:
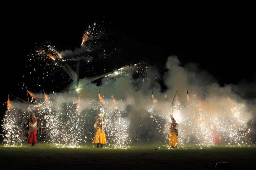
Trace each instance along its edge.
<path fill-rule="evenodd" d="M 93 143 L 97 143 L 97 148 L 99 148 L 99 144 L 100 148 L 103 148 L 103 144 L 106 144 L 106 136 L 104 132 L 105 125 L 106 123 L 103 121 L 103 117 L 99 116 L 98 120 L 94 124 L 94 128 L 97 129 L 97 132 L 94 136 Z"/>

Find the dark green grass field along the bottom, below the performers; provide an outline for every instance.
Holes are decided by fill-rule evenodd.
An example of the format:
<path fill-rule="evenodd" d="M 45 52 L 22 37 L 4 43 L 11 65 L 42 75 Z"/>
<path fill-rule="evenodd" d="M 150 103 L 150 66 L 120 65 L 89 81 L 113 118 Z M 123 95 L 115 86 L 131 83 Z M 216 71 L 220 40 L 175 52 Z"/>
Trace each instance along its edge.
<path fill-rule="evenodd" d="M 256 147 L 216 146 L 200 149 L 184 147 L 168 150 L 159 145 L 143 145 L 127 150 L 94 148 L 56 148 L 47 144 L 20 148 L 0 145 L 0 163 L 17 169 L 221 169 L 213 167 L 217 162 L 230 162 L 221 166 L 232 169 L 254 169 Z M 156 150 L 157 148 L 157 150 Z"/>

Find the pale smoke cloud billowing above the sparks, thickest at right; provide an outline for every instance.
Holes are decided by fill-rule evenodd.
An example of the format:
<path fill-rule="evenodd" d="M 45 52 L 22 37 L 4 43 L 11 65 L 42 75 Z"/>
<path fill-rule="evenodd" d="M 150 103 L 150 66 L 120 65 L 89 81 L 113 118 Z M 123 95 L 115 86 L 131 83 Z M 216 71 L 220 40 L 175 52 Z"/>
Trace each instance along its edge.
<path fill-rule="evenodd" d="M 73 54 L 74 52 L 66 51 L 65 53 Z M 79 50 L 77 53 L 79 53 Z M 160 93 L 160 85 L 156 81 L 159 79 L 160 74 L 154 67 L 146 66 L 133 69 L 129 76 L 115 79 L 103 78 L 100 86 L 90 83 L 83 86 L 79 90 L 79 94 L 76 91 L 70 91 L 50 94 L 49 98 L 53 109 L 60 111 L 63 104 L 67 102 L 77 103 L 78 96 L 80 96 L 80 110 L 84 111 L 96 109 L 98 90 L 103 96 L 106 108 L 113 106 L 111 98 L 113 94 L 118 109 L 126 112 L 133 123 L 134 127 L 132 128 L 140 128 L 139 126 L 143 124 L 143 119 L 148 115 L 148 110 L 153 105 L 152 91 L 154 91 L 155 100 L 157 100 L 154 109 L 164 116 L 166 122 L 169 122 L 169 114 L 172 113 L 172 108 L 171 104 L 163 98 L 166 96 L 166 99 L 172 101 L 176 90 L 178 90 L 176 106 L 179 107 L 179 111 L 177 113 L 177 110 L 175 111 L 174 117 L 178 123 L 181 122 L 181 125 L 184 125 L 183 128 L 181 126 L 183 130 L 181 134 L 184 136 L 191 135 L 191 128 L 186 125 L 189 121 L 195 123 L 195 126 L 205 125 L 206 127 L 207 125 L 206 130 L 208 131 L 210 124 L 219 125 L 223 123 L 221 122 L 223 117 L 232 122 L 235 116 L 240 116 L 235 118 L 238 122 L 240 120 L 243 121 L 243 126 L 250 121 L 253 114 L 251 109 L 254 107 L 248 105 L 249 102 L 232 91 L 233 85 L 221 87 L 214 77 L 206 71 L 200 70 L 197 64 L 188 63 L 183 66 L 176 56 L 171 56 L 167 59 L 166 68 L 168 70 L 165 72 L 163 79 L 167 89 L 163 93 Z M 143 70 L 143 74 L 134 79 L 133 75 L 141 70 Z M 187 90 L 189 101 L 187 101 Z M 240 110 L 238 112 L 232 111 L 230 109 L 232 104 Z M 19 107 L 18 105 L 16 106 Z M 187 119 L 188 117 L 189 119 Z M 200 124 L 199 121 L 201 121 Z M 146 129 L 140 129 L 140 131 L 142 133 Z M 223 131 L 224 133 L 227 132 Z M 198 140 L 202 140 L 199 138 Z"/>

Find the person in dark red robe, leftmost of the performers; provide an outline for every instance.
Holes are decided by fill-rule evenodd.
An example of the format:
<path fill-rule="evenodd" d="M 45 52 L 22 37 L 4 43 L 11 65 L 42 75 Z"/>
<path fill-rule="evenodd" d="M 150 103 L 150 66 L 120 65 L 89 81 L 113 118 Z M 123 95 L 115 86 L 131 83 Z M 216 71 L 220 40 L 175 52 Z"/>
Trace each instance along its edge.
<path fill-rule="evenodd" d="M 35 146 L 35 143 L 37 143 L 37 139 L 36 139 L 36 129 L 37 129 L 37 118 L 35 117 L 35 114 L 32 113 L 32 122 L 29 123 L 29 137 L 27 140 L 27 143 L 32 143 L 31 147 Z"/>

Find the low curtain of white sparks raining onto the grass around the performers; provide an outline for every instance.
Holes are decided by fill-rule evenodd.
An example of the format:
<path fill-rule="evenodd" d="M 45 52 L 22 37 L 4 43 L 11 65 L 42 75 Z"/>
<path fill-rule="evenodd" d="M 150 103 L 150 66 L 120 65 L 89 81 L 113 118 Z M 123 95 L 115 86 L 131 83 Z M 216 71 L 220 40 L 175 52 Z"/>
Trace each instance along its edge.
<path fill-rule="evenodd" d="M 148 120 L 152 123 L 148 122 L 149 124 L 144 127 L 148 131 L 146 137 L 139 134 L 138 131 L 133 134 L 131 128 L 134 127 L 131 126 L 131 117 L 118 109 L 118 101 L 114 99 L 113 95 L 109 96 L 109 99 L 103 99 L 104 95 L 101 96 L 98 93 L 99 108 L 96 107 L 96 102 L 92 99 L 87 101 L 89 106 L 82 108 L 81 96 L 66 99 L 60 108 L 56 108 L 55 102 L 57 101 L 54 98 L 57 98 L 57 93 L 50 94 L 50 99 L 53 98 L 53 101 L 49 100 L 45 92 L 32 96 L 35 95 L 38 96 L 38 100 L 31 103 L 32 107 L 30 108 L 32 110 L 20 110 L 15 102 L 11 104 L 10 99 L 8 99 L 8 107 L 2 125 L 5 145 L 21 145 L 22 142 L 26 141 L 30 112 L 34 112 L 38 118 L 38 127 L 42 128 L 43 131 L 46 130 L 38 138 L 47 139 L 46 141 L 60 148 L 79 147 L 80 144 L 93 140 L 95 132 L 89 132 L 85 127 L 88 127 L 89 124 L 93 125 L 99 116 L 98 114 L 102 113 L 106 122 L 105 133 L 108 147 L 126 149 L 130 147 L 131 143 L 136 142 L 131 136 L 136 136 L 138 141 L 145 138 L 148 141 L 161 139 L 166 143 L 168 142 L 168 127 L 171 120 L 169 116 L 157 110 L 159 102 L 154 95 L 152 95 L 154 105 L 148 110 L 147 115 Z M 199 101 L 201 100 L 199 99 Z M 214 145 L 212 127 L 215 127 L 215 130 L 220 133 L 222 144 L 249 145 L 248 133 L 250 129 L 247 127 L 248 120 L 244 116 L 245 106 L 230 98 L 228 103 L 226 114 L 220 116 L 218 113 L 206 111 L 204 102 L 198 103 L 196 98 L 191 99 L 187 105 L 182 105 L 176 101 L 173 116 L 180 128 L 179 145 L 194 143 L 201 148 Z M 98 114 L 96 113 L 97 108 L 100 110 Z M 167 109 L 171 112 L 170 108 Z M 145 122 L 146 119 L 141 121 Z"/>

